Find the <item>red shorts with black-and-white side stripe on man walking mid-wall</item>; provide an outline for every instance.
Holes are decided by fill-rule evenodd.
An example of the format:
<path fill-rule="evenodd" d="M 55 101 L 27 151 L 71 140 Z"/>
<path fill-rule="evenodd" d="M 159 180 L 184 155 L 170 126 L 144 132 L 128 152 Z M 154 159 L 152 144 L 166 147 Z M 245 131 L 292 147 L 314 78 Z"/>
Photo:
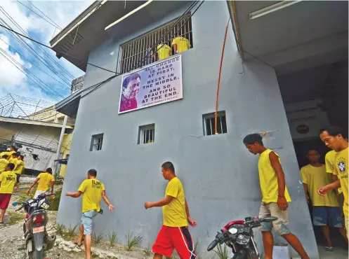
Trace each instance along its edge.
<path fill-rule="evenodd" d="M 173 249 L 176 249 L 180 259 L 196 258 L 192 237 L 187 227 L 162 226 L 152 246 L 152 252 L 171 257 Z"/>

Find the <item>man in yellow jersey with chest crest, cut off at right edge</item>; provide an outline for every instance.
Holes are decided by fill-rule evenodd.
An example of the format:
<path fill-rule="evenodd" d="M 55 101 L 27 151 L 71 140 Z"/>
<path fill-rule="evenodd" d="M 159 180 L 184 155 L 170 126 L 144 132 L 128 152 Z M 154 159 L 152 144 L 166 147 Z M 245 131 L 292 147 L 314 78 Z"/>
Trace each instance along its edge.
<path fill-rule="evenodd" d="M 331 190 L 342 188 L 344 196 L 343 213 L 348 237 L 348 141 L 345 140 L 343 130 L 336 126 L 322 130 L 320 139 L 328 148 L 336 151 L 334 175 L 338 176 L 338 179 L 334 183 L 319 188 L 317 193 L 324 196 Z"/>

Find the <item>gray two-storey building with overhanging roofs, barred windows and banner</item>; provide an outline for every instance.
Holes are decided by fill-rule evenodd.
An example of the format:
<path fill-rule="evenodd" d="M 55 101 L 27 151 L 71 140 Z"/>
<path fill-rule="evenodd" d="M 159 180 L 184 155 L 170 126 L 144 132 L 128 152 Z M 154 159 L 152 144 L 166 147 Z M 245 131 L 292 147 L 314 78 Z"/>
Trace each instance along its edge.
<path fill-rule="evenodd" d="M 86 71 L 82 89 L 55 106 L 76 118 L 66 173 L 70 181 L 63 192 L 77 190 L 88 169 L 96 169 L 116 209 L 104 208 L 94 231 L 114 228 L 125 243 L 123 233 L 131 230 L 147 247 L 162 224 L 162 210 L 145 211 L 143 204 L 163 197 L 160 167 L 171 161 L 198 222 L 191 231 L 199 239 L 200 256 L 210 258 L 206 246 L 225 223 L 258 215 L 258 157 L 242 139 L 259 132 L 282 159 L 292 197 L 291 229 L 310 258 L 319 258 L 297 156 L 310 142 L 321 143 L 316 134 L 294 137 L 290 127 L 301 126 L 306 134 L 305 126 L 316 132 L 340 123 L 326 110 L 334 100 L 317 91 L 325 84 L 331 89 L 336 78 L 343 78 L 337 90 L 345 91 L 346 83 L 341 102 L 348 106 L 348 2 L 204 1 L 190 9 L 192 3 L 96 1 L 51 40 Z M 334 73 L 339 76 L 330 76 Z M 327 111 L 327 120 L 312 126 L 301 115 L 300 123 L 289 125 L 285 104 L 319 98 L 315 106 L 321 104 L 317 107 Z M 342 124 L 348 127 L 345 114 Z M 303 149 L 296 156 L 298 143 Z M 62 197 L 58 222 L 79 223 L 80 206 L 80 200 Z M 261 235 L 257 240 L 263 247 Z"/>

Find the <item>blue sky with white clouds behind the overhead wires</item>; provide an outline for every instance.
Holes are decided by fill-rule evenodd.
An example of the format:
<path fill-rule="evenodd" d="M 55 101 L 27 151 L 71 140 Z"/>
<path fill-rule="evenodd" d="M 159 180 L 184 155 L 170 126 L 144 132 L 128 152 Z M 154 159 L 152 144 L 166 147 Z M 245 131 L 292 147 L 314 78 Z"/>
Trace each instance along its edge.
<path fill-rule="evenodd" d="M 42 14 L 44 13 L 56 25 L 64 28 L 93 1 L 1 0 L 0 24 L 18 32 L 22 29 L 21 33 L 25 32 L 31 38 L 50 45 L 49 41 L 59 33 L 59 29 L 40 18 L 39 15 L 45 17 Z M 25 38 L 19 39 L 18 36 L 1 27 L 0 98 L 13 93 L 56 103 L 70 94 L 69 85 L 72 79 L 83 74 L 83 71 L 64 58 L 55 57 L 53 50 L 39 47 Z"/>

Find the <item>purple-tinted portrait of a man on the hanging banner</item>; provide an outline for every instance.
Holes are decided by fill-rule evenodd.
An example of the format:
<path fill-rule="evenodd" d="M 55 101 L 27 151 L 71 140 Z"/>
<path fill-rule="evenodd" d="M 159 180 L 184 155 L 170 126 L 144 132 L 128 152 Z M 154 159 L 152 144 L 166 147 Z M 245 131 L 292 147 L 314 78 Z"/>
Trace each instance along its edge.
<path fill-rule="evenodd" d="M 138 108 L 137 94 L 140 88 L 140 75 L 131 73 L 122 82 L 121 101 L 119 112 L 130 111 Z"/>

